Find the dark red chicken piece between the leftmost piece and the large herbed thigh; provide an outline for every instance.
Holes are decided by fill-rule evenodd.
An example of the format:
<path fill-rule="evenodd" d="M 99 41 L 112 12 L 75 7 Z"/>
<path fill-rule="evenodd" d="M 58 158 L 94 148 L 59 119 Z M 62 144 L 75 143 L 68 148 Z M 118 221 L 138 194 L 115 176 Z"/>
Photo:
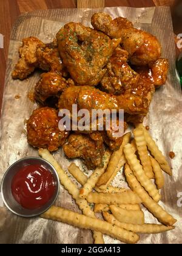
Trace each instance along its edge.
<path fill-rule="evenodd" d="M 55 71 L 62 74 L 62 76 L 67 77 L 67 69 L 62 64 L 56 40 L 37 48 L 36 55 L 38 58 L 39 68 L 46 71 Z"/>

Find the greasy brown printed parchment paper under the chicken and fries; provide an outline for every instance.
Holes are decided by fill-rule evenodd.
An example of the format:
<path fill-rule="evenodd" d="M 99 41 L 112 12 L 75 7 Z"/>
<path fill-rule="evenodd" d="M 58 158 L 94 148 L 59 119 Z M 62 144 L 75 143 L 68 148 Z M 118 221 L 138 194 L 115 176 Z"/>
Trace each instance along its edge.
<path fill-rule="evenodd" d="M 175 45 L 172 20 L 169 7 L 152 7 L 133 9 L 112 7 L 105 9 L 55 9 L 38 10 L 24 13 L 16 20 L 10 38 L 10 49 L 7 63 L 5 91 L 1 115 L 0 143 L 0 181 L 8 166 L 25 156 L 38 156 L 38 151 L 27 143 L 25 119 L 28 119 L 37 105 L 27 98 L 39 79 L 36 71 L 29 79 L 13 80 L 12 69 L 18 60 L 18 48 L 21 40 L 30 35 L 38 37 L 45 43 L 50 42 L 62 25 L 69 21 L 90 25 L 93 13 L 104 11 L 112 18 L 124 16 L 140 29 L 156 35 L 161 42 L 162 56 L 169 59 L 170 69 L 166 85 L 156 91 L 150 105 L 150 112 L 144 124 L 149 125 L 150 133 L 173 168 L 173 176 L 165 175 L 165 186 L 161 190 L 160 204 L 176 218 L 175 230 L 158 235 L 141 235 L 139 243 L 181 243 L 182 242 L 182 100 L 180 83 L 175 71 Z M 21 96 L 15 99 L 15 96 Z M 169 151 L 175 152 L 175 158 L 168 157 Z M 70 164 L 64 157 L 62 149 L 55 152 L 55 157 L 67 170 Z M 76 164 L 80 162 L 74 160 Z M 83 164 L 81 165 L 83 166 Z M 88 174 L 90 175 L 90 171 Z M 126 187 L 124 177 L 118 173 L 113 184 Z M 178 205 L 177 205 L 178 202 Z M 181 204 L 180 204 L 181 202 Z M 56 205 L 79 212 L 72 197 L 60 188 Z M 144 209 L 146 222 L 158 223 L 157 219 Z M 119 243 L 109 236 L 104 236 L 106 243 Z M 10 213 L 2 203 L 0 196 L 0 243 L 92 243 L 90 230 L 77 229 L 67 224 L 41 218 L 24 219 Z"/>

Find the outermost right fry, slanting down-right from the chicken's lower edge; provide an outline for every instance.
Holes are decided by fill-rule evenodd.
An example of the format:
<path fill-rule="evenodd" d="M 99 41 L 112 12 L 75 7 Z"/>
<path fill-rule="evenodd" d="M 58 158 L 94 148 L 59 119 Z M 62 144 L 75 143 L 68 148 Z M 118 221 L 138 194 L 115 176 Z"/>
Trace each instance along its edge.
<path fill-rule="evenodd" d="M 164 172 L 171 176 L 172 171 L 170 169 L 170 166 L 167 163 L 166 158 L 164 157 L 162 152 L 158 149 L 157 144 L 155 144 L 155 141 L 150 136 L 150 133 L 144 128 L 142 124 L 138 125 L 137 127 L 142 127 L 142 129 L 144 130 L 144 135 L 147 141 L 147 148 L 149 149 L 155 160 L 157 160 L 157 162 L 161 166 L 161 169 L 163 169 Z"/>

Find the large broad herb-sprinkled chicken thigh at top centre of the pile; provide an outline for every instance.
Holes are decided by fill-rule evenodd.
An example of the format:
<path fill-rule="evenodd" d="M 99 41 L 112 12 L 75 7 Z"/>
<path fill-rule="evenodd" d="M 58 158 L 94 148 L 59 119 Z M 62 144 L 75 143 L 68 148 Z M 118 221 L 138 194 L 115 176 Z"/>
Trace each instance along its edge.
<path fill-rule="evenodd" d="M 78 85 L 91 86 L 103 78 L 104 66 L 121 41 L 73 22 L 64 25 L 56 38 L 62 62 L 73 80 Z"/>

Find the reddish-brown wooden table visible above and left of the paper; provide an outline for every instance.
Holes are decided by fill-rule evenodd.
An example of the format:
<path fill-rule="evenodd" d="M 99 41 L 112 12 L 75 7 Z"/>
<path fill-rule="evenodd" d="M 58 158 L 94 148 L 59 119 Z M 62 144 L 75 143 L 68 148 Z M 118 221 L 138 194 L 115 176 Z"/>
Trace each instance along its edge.
<path fill-rule="evenodd" d="M 151 7 L 155 5 L 174 6 L 177 2 L 181 2 L 181 0 L 0 0 L 0 34 L 4 35 L 4 48 L 0 49 L 0 110 L 4 90 L 10 31 L 19 14 L 32 12 L 33 10 L 38 9 L 56 8 L 98 8 L 104 6 Z M 180 21 L 176 23 L 180 24 Z"/>

